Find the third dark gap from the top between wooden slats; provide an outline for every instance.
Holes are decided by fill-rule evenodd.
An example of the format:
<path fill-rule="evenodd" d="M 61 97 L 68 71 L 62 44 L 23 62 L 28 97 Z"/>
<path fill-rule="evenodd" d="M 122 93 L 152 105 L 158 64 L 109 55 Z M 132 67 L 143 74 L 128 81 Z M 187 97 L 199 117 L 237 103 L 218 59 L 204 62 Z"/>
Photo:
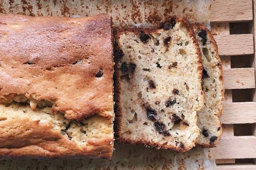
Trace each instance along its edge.
<path fill-rule="evenodd" d="M 233 89 L 232 90 L 233 102 L 251 102 L 251 89 Z"/>

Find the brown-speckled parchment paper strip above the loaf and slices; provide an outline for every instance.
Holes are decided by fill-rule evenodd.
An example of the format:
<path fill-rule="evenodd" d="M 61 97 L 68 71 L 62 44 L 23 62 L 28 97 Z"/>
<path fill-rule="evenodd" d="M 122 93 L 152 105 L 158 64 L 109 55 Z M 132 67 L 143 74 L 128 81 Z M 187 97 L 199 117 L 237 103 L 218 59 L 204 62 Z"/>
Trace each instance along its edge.
<path fill-rule="evenodd" d="M 116 26 L 157 26 L 172 15 L 210 26 L 211 0 L 2 0 L 1 13 L 83 17 L 108 13 Z"/>

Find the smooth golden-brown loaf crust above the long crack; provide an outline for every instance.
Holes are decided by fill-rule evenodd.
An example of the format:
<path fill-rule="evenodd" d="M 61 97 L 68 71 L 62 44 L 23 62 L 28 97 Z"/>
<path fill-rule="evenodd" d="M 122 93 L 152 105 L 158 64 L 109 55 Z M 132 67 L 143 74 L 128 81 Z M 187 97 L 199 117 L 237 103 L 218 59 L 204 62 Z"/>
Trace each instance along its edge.
<path fill-rule="evenodd" d="M 55 101 L 81 120 L 113 117 L 111 17 L 0 15 L 0 102 L 16 94 Z M 103 75 L 96 77 L 102 69 Z"/>

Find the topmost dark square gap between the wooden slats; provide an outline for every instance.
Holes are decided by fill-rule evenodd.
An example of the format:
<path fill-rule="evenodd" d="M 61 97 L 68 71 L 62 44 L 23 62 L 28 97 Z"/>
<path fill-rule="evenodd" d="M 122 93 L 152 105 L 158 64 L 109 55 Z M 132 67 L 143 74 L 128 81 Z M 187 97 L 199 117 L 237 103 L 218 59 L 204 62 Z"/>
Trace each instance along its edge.
<path fill-rule="evenodd" d="M 230 34 L 249 34 L 249 23 L 230 23 Z"/>

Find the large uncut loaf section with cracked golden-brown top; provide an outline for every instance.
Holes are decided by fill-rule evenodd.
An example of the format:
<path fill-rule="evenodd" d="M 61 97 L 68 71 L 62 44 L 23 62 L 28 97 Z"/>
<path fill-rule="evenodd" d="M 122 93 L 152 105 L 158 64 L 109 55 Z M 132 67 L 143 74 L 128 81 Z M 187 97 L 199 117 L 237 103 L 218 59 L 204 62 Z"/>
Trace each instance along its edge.
<path fill-rule="evenodd" d="M 0 20 L 0 157 L 111 158 L 111 17 Z"/>

